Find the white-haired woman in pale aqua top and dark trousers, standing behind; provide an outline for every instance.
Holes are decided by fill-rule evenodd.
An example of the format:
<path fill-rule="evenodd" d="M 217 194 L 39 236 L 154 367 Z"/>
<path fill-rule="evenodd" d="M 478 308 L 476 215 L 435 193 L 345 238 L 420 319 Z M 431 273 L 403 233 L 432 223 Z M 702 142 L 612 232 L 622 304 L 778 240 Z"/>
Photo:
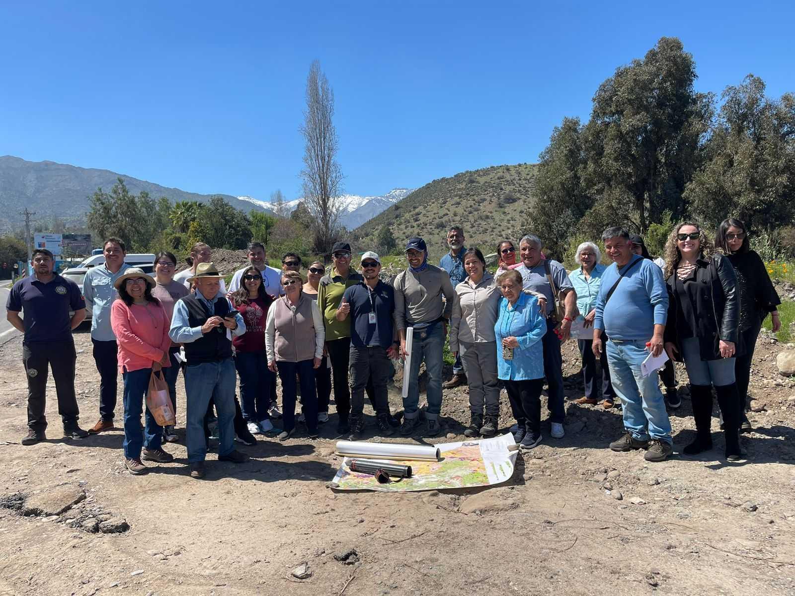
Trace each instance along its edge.
<path fill-rule="evenodd" d="M 577 292 L 577 310 L 580 315 L 577 320 L 582 321 L 584 327 L 589 329 L 588 338 L 577 339 L 577 346 L 580 347 L 580 355 L 583 358 L 583 384 L 585 396 L 574 401 L 576 404 L 595 404 L 599 401 L 599 379 L 596 377 L 596 357 L 591 344 L 593 343 L 592 331 L 594 328 L 594 315 L 596 307 L 596 295 L 599 294 L 599 287 L 602 285 L 602 273 L 607 269 L 605 265 L 599 263 L 602 254 L 593 242 L 583 242 L 577 246 L 574 260 L 579 269 L 574 269 L 568 274 L 568 279 Z M 609 410 L 613 407 L 615 391 L 610 381 L 610 368 L 607 366 L 607 353 L 602 350 L 602 402 L 601 406 Z"/>

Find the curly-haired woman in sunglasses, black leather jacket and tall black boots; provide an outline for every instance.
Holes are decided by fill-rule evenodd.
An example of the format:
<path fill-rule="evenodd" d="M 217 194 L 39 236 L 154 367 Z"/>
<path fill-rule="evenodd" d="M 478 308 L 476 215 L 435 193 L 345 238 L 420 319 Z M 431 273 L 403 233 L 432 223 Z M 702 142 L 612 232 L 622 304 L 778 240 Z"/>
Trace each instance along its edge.
<path fill-rule="evenodd" d="M 712 387 L 723 412 L 726 458 L 742 459 L 739 446 L 740 406 L 735 382 L 739 325 L 739 292 L 731 263 L 710 255 L 712 244 L 693 223 L 674 228 L 665 245 L 665 281 L 669 289 L 665 350 L 684 359 L 690 380 L 696 440 L 684 447 L 695 455 L 712 448 Z"/>

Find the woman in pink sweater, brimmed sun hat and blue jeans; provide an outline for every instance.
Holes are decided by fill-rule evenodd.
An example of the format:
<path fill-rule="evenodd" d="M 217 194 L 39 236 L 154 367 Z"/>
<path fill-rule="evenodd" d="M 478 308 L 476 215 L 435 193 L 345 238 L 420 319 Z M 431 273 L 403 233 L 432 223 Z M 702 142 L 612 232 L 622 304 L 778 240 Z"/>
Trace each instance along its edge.
<path fill-rule="evenodd" d="M 115 281 L 118 300 L 111 306 L 111 327 L 118 343 L 118 370 L 124 379 L 124 464 L 130 474 L 143 474 L 142 459 L 167 463 L 173 455 L 163 451 L 163 428 L 146 410 L 141 429 L 144 396 L 152 371 L 171 366 L 169 316 L 152 296 L 155 281 L 136 267 Z M 143 447 L 143 455 L 142 455 Z"/>

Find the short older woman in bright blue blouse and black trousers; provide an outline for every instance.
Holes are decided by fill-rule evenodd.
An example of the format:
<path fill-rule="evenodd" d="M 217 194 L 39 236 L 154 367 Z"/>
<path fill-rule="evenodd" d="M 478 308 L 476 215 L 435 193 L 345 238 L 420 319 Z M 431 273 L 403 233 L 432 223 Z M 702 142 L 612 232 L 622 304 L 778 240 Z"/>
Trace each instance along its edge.
<path fill-rule="evenodd" d="M 541 443 L 541 389 L 544 386 L 546 323 L 535 296 L 522 292 L 516 270 L 498 277 L 502 292 L 494 335 L 497 340 L 497 376 L 505 381 L 510 408 L 516 418 L 514 440 L 522 449 Z"/>

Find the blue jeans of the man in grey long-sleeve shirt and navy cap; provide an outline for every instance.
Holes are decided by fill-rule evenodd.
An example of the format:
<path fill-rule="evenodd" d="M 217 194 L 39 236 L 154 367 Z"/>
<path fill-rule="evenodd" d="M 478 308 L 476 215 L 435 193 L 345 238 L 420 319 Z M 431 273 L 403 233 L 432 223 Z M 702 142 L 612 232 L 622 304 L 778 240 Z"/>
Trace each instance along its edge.
<path fill-rule="evenodd" d="M 425 337 L 423 337 L 425 335 Z M 442 323 L 434 323 L 426 329 L 414 329 L 411 348 L 411 373 L 409 376 L 409 395 L 403 398 L 403 411 L 409 420 L 417 418 L 420 404 L 420 365 L 425 360 L 428 385 L 428 411 L 425 416 L 436 420 L 442 410 L 442 351 L 444 350 L 444 329 Z"/>

